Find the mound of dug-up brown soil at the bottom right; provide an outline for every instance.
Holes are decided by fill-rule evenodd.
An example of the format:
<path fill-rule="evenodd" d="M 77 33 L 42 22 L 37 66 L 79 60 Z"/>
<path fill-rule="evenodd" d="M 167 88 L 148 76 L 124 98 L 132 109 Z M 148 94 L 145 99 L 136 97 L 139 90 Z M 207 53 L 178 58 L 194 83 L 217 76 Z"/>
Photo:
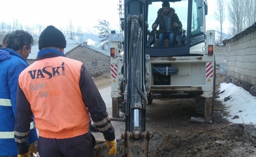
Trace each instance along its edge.
<path fill-rule="evenodd" d="M 184 135 L 168 135 L 153 156 L 245 157 L 255 155 L 256 141 L 239 124 L 212 126 Z"/>

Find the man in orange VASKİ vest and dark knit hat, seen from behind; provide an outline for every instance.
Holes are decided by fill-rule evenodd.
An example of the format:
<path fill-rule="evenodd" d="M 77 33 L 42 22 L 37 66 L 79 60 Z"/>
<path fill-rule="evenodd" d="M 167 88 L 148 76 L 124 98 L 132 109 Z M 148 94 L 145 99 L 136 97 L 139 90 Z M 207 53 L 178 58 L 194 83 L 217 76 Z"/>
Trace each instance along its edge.
<path fill-rule="evenodd" d="M 54 26 L 42 31 L 36 61 L 19 76 L 15 139 L 18 156 L 30 157 L 26 139 L 30 117 L 39 131 L 40 157 L 95 157 L 90 115 L 106 139 L 109 154 L 117 153 L 115 130 L 106 105 L 80 61 L 66 58 L 66 39 Z M 90 113 L 90 115 L 89 115 Z"/>

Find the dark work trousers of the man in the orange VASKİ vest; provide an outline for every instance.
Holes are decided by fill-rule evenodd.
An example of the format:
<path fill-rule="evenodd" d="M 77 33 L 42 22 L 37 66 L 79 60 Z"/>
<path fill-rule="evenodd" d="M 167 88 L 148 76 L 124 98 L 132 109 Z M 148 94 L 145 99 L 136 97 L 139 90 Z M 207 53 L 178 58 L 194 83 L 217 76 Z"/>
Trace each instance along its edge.
<path fill-rule="evenodd" d="M 94 153 L 95 138 L 90 132 L 68 138 L 38 138 L 37 150 L 40 157 L 96 157 Z"/>

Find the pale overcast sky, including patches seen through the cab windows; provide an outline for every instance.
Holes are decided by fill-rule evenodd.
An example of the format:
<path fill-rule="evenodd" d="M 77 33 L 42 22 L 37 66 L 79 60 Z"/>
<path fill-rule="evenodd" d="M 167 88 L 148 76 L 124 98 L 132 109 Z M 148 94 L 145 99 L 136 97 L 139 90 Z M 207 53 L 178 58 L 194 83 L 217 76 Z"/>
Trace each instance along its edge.
<path fill-rule="evenodd" d="M 0 21 L 11 24 L 17 19 L 23 26 L 42 24 L 65 28 L 69 20 L 72 20 L 74 26 L 80 25 L 82 31 L 86 31 L 93 30 L 97 19 L 105 19 L 112 27 L 119 30 L 118 4 L 119 0 L 6 0 L 1 6 Z M 156 18 L 157 8 L 161 7 L 161 3 L 154 6 L 155 10 L 150 14 L 153 16 L 151 20 Z M 182 21 L 183 7 L 175 5 L 175 9 Z M 215 0 L 208 0 L 207 29 L 216 29 L 218 26 L 218 21 L 214 18 L 214 9 L 216 9 Z M 227 18 L 224 26 L 229 26 Z M 224 29 L 224 32 L 228 33 L 228 29 Z"/>

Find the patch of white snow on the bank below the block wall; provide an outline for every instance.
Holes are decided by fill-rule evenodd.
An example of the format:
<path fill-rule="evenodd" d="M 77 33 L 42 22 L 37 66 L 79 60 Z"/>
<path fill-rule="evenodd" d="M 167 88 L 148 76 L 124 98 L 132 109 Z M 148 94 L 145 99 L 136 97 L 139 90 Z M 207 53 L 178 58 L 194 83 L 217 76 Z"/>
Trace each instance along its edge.
<path fill-rule="evenodd" d="M 219 98 L 216 100 L 227 107 L 230 115 L 227 119 L 230 122 L 256 124 L 256 97 L 232 83 L 221 83 L 219 91 Z M 233 119 L 234 116 L 239 118 Z"/>

